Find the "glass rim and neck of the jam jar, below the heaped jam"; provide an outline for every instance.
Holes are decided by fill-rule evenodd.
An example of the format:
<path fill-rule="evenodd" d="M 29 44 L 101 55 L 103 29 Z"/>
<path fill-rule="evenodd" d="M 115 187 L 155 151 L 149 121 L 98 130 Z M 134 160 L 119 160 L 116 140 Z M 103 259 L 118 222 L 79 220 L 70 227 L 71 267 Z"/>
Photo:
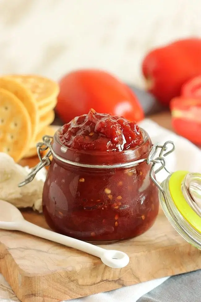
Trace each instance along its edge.
<path fill-rule="evenodd" d="M 140 128 L 140 130 L 143 134 L 143 143 L 135 148 L 119 152 L 89 152 L 66 147 L 58 139 L 59 130 L 60 128 L 55 132 L 51 142 L 53 157 L 60 160 L 62 163 L 72 164 L 78 167 L 111 169 L 133 166 L 133 164 L 139 164 L 140 162 L 146 161 L 152 147 L 152 142 L 148 133 L 142 128 Z"/>

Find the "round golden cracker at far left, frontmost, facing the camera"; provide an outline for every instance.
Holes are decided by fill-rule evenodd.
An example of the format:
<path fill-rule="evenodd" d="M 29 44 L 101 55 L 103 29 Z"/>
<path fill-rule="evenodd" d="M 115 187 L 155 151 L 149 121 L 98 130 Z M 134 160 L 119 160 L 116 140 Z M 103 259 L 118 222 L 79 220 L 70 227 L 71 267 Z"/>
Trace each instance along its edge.
<path fill-rule="evenodd" d="M 0 152 L 19 161 L 30 144 L 32 124 L 24 104 L 0 88 Z"/>

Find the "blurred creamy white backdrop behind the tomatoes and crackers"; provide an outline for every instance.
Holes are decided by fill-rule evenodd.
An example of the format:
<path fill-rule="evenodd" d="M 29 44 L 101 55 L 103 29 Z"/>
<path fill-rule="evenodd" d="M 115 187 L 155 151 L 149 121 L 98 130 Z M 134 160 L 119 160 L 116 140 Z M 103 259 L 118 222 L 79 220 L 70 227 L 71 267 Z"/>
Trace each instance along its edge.
<path fill-rule="evenodd" d="M 0 73 L 104 68 L 132 84 L 152 47 L 201 35 L 200 0 L 0 0 Z"/>

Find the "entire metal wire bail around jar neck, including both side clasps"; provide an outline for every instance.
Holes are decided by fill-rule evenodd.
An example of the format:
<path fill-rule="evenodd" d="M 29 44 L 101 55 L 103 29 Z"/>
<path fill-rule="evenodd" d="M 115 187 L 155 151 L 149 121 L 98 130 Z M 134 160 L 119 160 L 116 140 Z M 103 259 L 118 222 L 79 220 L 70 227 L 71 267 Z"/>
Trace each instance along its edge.
<path fill-rule="evenodd" d="M 38 154 L 38 158 L 40 160 L 40 162 L 32 169 L 32 171 L 27 175 L 27 177 L 25 178 L 25 180 L 23 182 L 19 183 L 19 187 L 22 187 L 26 184 L 28 184 L 29 182 L 31 182 L 34 177 L 36 176 L 36 174 L 45 166 L 49 166 L 51 164 L 51 160 L 49 158 L 50 155 L 53 155 L 54 157 L 56 157 L 58 160 L 63 161 L 64 163 L 67 164 L 71 164 L 74 166 L 79 166 L 79 167 L 89 167 L 89 168 L 96 168 L 96 169 L 112 169 L 112 168 L 131 168 L 139 163 L 142 162 L 147 162 L 147 164 L 152 164 L 151 169 L 150 169 L 150 173 L 149 176 L 152 180 L 152 182 L 154 182 L 154 184 L 159 188 L 159 190 L 163 193 L 164 197 L 165 197 L 165 192 L 163 190 L 163 188 L 160 186 L 160 184 L 156 181 L 154 175 L 157 174 L 158 172 L 160 172 L 162 169 L 165 169 L 165 171 L 169 174 L 171 174 L 171 172 L 166 168 L 166 160 L 165 157 L 167 155 L 169 155 L 170 153 L 172 153 L 175 150 L 175 145 L 174 142 L 172 141 L 167 141 L 165 142 L 163 145 L 159 145 L 158 143 L 154 144 L 151 148 L 151 151 L 148 155 L 148 158 L 144 158 L 144 159 L 140 159 L 140 160 L 134 160 L 131 161 L 129 163 L 123 163 L 123 164 L 113 164 L 113 165 L 91 165 L 91 164 L 81 164 L 81 163 L 77 163 L 77 162 L 72 162 L 70 160 L 65 160 L 62 157 L 60 157 L 59 155 L 57 155 L 51 146 L 51 142 L 52 142 L 53 136 L 50 135 L 45 135 L 42 138 L 42 142 L 38 142 L 36 147 L 37 147 L 37 154 Z M 170 146 L 170 148 L 169 148 Z M 41 152 L 42 151 L 49 151 L 46 153 L 46 155 L 44 157 L 42 157 Z M 158 157 L 155 158 L 157 151 L 160 150 L 160 154 Z M 168 151 L 169 149 L 169 151 Z M 155 165 L 156 164 L 161 164 L 161 166 L 156 169 L 156 171 L 154 171 Z"/>

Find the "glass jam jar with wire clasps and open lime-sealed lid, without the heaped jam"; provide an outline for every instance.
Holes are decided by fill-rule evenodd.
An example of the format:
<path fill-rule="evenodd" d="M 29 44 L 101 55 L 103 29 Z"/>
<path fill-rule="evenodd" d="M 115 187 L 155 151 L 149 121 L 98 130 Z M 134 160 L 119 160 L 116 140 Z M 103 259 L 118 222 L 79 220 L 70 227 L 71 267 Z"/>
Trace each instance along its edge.
<path fill-rule="evenodd" d="M 174 143 L 152 145 L 145 131 L 143 137 L 139 147 L 114 156 L 64 148 L 57 132 L 54 138 L 44 136 L 37 144 L 40 163 L 19 186 L 50 165 L 43 190 L 49 226 L 91 243 L 113 243 L 143 234 L 155 221 L 160 201 L 175 230 L 201 250 L 201 174 L 169 172 L 165 159 L 174 151 Z M 42 158 L 41 151 L 47 149 Z M 155 174 L 162 169 L 169 176 L 159 184 Z"/>

